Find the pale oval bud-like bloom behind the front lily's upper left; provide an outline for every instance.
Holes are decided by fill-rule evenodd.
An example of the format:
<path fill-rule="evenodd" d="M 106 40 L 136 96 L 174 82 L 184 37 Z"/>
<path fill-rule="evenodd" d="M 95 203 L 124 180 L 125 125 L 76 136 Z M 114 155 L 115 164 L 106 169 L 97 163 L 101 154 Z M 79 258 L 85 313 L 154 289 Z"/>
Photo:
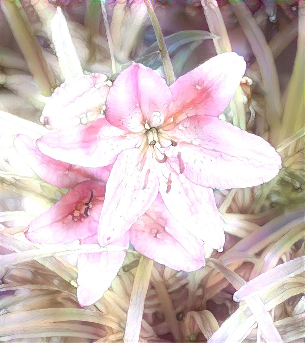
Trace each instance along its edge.
<path fill-rule="evenodd" d="M 104 74 L 90 74 L 62 83 L 46 103 L 41 122 L 48 128 L 59 128 L 96 119 L 105 110 L 107 81 Z"/>

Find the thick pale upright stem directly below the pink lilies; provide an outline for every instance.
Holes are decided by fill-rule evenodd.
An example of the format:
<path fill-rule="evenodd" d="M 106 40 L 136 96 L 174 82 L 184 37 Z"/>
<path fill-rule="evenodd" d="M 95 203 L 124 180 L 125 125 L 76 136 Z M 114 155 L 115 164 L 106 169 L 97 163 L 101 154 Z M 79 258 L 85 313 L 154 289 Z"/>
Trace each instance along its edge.
<path fill-rule="evenodd" d="M 139 342 L 143 310 L 148 289 L 153 260 L 141 256 L 134 278 L 123 342 Z"/>

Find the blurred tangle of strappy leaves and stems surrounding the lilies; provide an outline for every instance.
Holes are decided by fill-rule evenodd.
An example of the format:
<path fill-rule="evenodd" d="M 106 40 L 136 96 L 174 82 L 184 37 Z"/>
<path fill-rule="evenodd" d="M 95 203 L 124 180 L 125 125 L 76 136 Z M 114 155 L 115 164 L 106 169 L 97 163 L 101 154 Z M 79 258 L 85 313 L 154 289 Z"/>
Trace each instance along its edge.
<path fill-rule="evenodd" d="M 246 77 L 220 118 L 268 140 L 283 168 L 264 185 L 214 191 L 224 252 L 207 250 L 207 267 L 192 273 L 154 263 L 139 340 L 272 342 L 279 334 L 284 342 L 304 342 L 304 0 L 151 3 L 177 78 L 224 51 L 244 57 Z M 23 235 L 67 190 L 39 179 L 13 140 L 47 131 L 41 111 L 65 80 L 92 72 L 113 80 L 132 61 L 163 75 L 146 6 L 142 0 L 2 0 L 0 32 L 0 248 L 7 258 L 0 339 L 121 342 L 139 256 L 127 254 L 103 298 L 81 308 L 77 256 L 54 251 L 31 260 L 45 246 Z M 259 299 L 236 300 L 240 290 L 233 301 L 249 280 Z M 270 318 L 271 332 L 264 326 Z"/>

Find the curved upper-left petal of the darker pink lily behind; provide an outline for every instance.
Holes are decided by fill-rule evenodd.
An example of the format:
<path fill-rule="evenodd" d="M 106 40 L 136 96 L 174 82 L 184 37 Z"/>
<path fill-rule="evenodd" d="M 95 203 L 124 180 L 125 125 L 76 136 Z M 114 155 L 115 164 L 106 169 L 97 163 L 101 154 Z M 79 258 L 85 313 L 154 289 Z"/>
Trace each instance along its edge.
<path fill-rule="evenodd" d="M 112 168 L 112 165 L 100 168 L 84 168 L 58 161 L 42 154 L 33 139 L 24 134 L 17 134 L 14 144 L 25 162 L 41 179 L 61 188 L 72 188 L 76 184 L 91 178 L 106 183 Z"/>

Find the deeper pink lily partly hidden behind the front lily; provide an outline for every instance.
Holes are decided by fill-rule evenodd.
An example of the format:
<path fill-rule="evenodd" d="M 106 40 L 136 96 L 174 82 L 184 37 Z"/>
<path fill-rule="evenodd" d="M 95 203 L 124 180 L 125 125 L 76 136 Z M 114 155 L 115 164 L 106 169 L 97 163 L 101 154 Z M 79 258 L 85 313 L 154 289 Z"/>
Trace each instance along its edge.
<path fill-rule="evenodd" d="M 54 186 L 71 188 L 48 211 L 25 229 L 34 243 L 98 244 L 97 231 L 105 198 L 105 182 L 112 165 L 83 168 L 42 154 L 23 134 L 15 147 L 35 173 Z M 202 241 L 184 230 L 169 213 L 160 194 L 115 245 L 128 248 L 176 270 L 193 271 L 205 264 Z M 169 254 L 170 251 L 170 254 Z M 82 306 L 95 303 L 110 287 L 125 258 L 125 251 L 82 253 L 78 256 L 77 299 Z"/>

